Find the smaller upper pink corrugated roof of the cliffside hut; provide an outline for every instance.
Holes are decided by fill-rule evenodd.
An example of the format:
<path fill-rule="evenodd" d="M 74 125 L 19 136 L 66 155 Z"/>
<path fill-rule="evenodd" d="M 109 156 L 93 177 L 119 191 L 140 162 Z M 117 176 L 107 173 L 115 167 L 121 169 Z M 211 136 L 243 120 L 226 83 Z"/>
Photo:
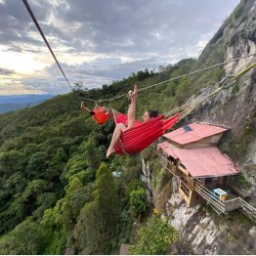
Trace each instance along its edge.
<path fill-rule="evenodd" d="M 228 130 L 227 128 L 202 123 L 192 123 L 190 127 L 192 131 L 179 128 L 164 134 L 163 137 L 180 145 L 185 145 Z"/>

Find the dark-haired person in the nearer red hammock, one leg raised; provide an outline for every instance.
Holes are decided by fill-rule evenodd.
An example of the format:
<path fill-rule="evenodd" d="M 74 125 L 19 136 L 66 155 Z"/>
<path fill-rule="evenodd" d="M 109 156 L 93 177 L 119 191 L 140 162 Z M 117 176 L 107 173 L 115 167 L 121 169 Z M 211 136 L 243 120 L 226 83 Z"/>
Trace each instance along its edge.
<path fill-rule="evenodd" d="M 115 145 L 119 141 L 121 134 L 124 131 L 131 129 L 132 127 L 135 126 L 135 122 L 136 122 L 135 116 L 136 116 L 137 99 L 138 99 L 138 86 L 137 85 L 134 85 L 134 90 L 129 95 L 130 95 L 129 96 L 129 98 L 130 98 L 129 104 L 130 105 L 129 105 L 128 112 L 127 112 L 127 117 L 128 117 L 127 126 L 125 126 L 123 123 L 118 123 L 115 126 L 109 148 L 107 149 L 107 155 L 106 155 L 107 158 L 110 156 L 111 153 L 113 153 L 115 151 Z M 144 113 L 143 120 L 144 120 L 144 122 L 147 122 L 147 121 L 149 121 L 150 118 L 154 118 L 156 116 L 158 116 L 157 110 L 148 110 Z"/>

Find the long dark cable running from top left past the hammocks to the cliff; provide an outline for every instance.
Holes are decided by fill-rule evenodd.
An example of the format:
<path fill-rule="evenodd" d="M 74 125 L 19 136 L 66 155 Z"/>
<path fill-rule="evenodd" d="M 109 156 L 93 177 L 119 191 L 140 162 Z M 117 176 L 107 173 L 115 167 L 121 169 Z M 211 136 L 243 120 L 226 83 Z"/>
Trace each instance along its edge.
<path fill-rule="evenodd" d="M 23 4 L 24 4 L 24 6 L 25 6 L 27 12 L 29 13 L 29 15 L 30 15 L 32 21 L 34 21 L 34 23 L 35 23 L 35 25 L 36 25 L 38 31 L 40 32 L 40 34 L 41 34 L 41 36 L 42 36 L 42 38 L 43 38 L 45 44 L 47 45 L 49 51 L 50 51 L 51 54 L 52 54 L 53 58 L 55 59 L 55 61 L 56 61 L 56 63 L 58 64 L 58 66 L 60 67 L 60 69 L 61 69 L 61 71 L 62 71 L 62 73 L 63 73 L 63 75 L 64 75 L 65 81 L 67 82 L 67 84 L 68 84 L 68 86 L 70 87 L 71 91 L 74 92 L 73 88 L 71 87 L 70 83 L 68 82 L 68 80 L 67 80 L 67 78 L 66 78 L 66 76 L 65 76 L 65 74 L 64 74 L 64 70 L 63 70 L 61 64 L 59 64 L 59 62 L 58 62 L 58 60 L 57 60 L 57 58 L 56 58 L 56 56 L 55 56 L 55 54 L 54 54 L 54 52 L 53 52 L 53 50 L 52 50 L 50 44 L 48 43 L 48 41 L 47 41 L 47 39 L 46 39 L 46 37 L 45 37 L 45 35 L 44 35 L 44 33 L 43 33 L 43 31 L 42 31 L 42 29 L 41 29 L 39 23 L 36 21 L 36 18 L 34 17 L 33 12 L 32 12 L 32 10 L 31 10 L 29 4 L 27 3 L 26 0 L 22 0 L 22 2 L 23 2 Z M 157 86 L 157 85 L 161 85 L 161 84 L 164 84 L 164 83 L 167 83 L 167 82 L 170 82 L 170 81 L 178 80 L 178 79 L 180 79 L 180 78 L 183 78 L 183 77 L 186 77 L 186 76 L 189 76 L 189 75 L 198 73 L 198 72 L 202 72 L 202 71 L 211 69 L 211 68 L 213 68 L 213 67 L 217 67 L 217 66 L 220 66 L 220 65 L 223 65 L 223 64 L 230 64 L 230 63 L 233 63 L 233 62 L 238 61 L 238 60 L 241 60 L 241 59 L 246 59 L 246 58 L 251 57 L 251 56 L 256 56 L 256 53 L 250 54 L 250 55 L 247 55 L 247 56 L 243 56 L 243 57 L 239 57 L 239 58 L 235 58 L 235 59 L 232 59 L 232 60 L 229 60 L 229 61 L 220 63 L 220 64 L 213 64 L 213 65 L 210 65 L 210 66 L 206 66 L 206 67 L 203 67 L 203 68 L 201 68 L 201 69 L 197 69 L 197 70 L 194 70 L 194 71 L 192 71 L 192 72 L 189 72 L 189 73 L 186 73 L 186 74 L 182 74 L 182 75 L 179 75 L 179 76 L 170 78 L 170 79 L 168 79 L 168 80 L 165 80 L 165 81 L 162 81 L 162 82 L 159 82 L 159 83 L 155 83 L 155 84 L 149 85 L 149 86 L 147 86 L 147 87 L 141 88 L 141 89 L 138 90 L 138 92 L 147 90 L 147 89 L 149 89 L 149 88 L 151 88 L 151 87 L 155 87 L 155 86 Z M 241 76 L 243 73 L 245 73 L 246 71 L 248 71 L 249 69 L 251 69 L 252 67 L 254 67 L 255 65 L 256 65 L 256 64 L 251 64 L 250 66 L 248 66 L 247 68 L 245 68 L 244 70 L 242 70 L 238 75 L 235 76 L 236 79 L 237 79 L 239 76 Z M 235 80 L 236 80 L 236 79 L 235 79 Z M 221 88 L 223 88 L 223 87 L 221 87 Z M 119 95 L 119 96 L 116 96 L 116 97 L 113 97 L 113 98 L 110 98 L 110 99 L 103 99 L 103 100 L 94 100 L 94 99 L 88 99 L 88 98 L 83 98 L 83 97 L 80 97 L 80 96 L 79 96 L 79 98 L 81 98 L 81 99 L 83 99 L 83 100 L 85 100 L 85 101 L 91 101 L 91 102 L 94 102 L 94 103 L 96 103 L 96 104 L 97 104 L 97 102 L 98 102 L 98 103 L 100 103 L 100 102 L 108 102 L 108 103 L 110 103 L 111 101 L 120 99 L 120 98 L 122 98 L 122 97 L 127 97 L 127 94 L 123 94 L 123 95 Z"/>

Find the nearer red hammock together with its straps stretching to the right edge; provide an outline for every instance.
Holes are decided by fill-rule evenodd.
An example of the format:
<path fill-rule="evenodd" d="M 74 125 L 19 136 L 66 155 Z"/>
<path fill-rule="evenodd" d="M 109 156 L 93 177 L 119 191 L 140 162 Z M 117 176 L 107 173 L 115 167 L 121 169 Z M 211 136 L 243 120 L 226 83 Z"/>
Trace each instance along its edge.
<path fill-rule="evenodd" d="M 122 132 L 120 140 L 117 142 L 115 146 L 115 152 L 123 155 L 125 152 L 129 154 L 135 154 L 140 152 L 143 149 L 146 149 L 152 142 L 154 142 L 158 137 L 164 134 L 164 132 L 170 129 L 174 124 L 176 124 L 179 120 L 187 116 L 192 112 L 192 110 L 207 100 L 209 97 L 217 94 L 222 89 L 227 89 L 231 85 L 235 84 L 236 80 L 243 75 L 245 72 L 250 70 L 252 67 L 256 66 L 256 64 L 251 64 L 246 69 L 242 70 L 240 73 L 235 75 L 233 82 L 228 85 L 222 85 L 212 93 L 196 99 L 192 102 L 189 102 L 181 107 L 176 107 L 172 111 L 169 111 L 168 114 L 174 114 L 167 119 L 163 119 L 164 115 L 159 115 L 155 118 L 149 119 L 149 121 L 145 123 L 140 123 L 136 120 L 133 128 L 130 128 L 124 132 Z M 225 79 L 220 81 L 220 84 L 223 83 L 230 75 L 228 75 Z M 233 76 L 232 76 L 233 77 Z M 177 113 L 178 112 L 178 113 Z M 123 123 L 127 124 L 127 116 L 123 113 L 114 111 L 112 109 L 113 119 L 115 124 Z"/>

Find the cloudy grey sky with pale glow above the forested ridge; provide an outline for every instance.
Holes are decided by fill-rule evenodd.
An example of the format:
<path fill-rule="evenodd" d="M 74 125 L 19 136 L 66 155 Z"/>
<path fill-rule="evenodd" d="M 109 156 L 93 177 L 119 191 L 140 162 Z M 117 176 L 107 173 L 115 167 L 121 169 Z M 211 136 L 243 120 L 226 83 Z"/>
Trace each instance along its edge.
<path fill-rule="evenodd" d="M 238 0 L 27 0 L 71 86 L 197 58 Z M 0 96 L 70 88 L 21 0 L 0 0 Z"/>

